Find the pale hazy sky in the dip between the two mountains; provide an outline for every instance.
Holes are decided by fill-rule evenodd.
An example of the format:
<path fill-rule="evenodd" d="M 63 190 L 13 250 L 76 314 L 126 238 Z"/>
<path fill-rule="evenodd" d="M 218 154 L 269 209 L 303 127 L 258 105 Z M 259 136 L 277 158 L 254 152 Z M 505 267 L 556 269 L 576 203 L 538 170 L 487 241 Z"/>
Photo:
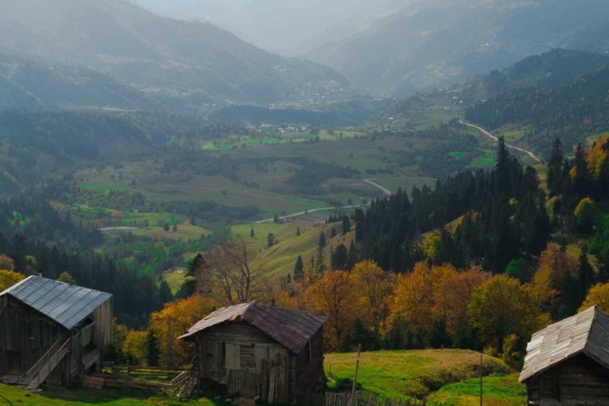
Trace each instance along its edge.
<path fill-rule="evenodd" d="M 414 0 L 129 0 L 175 18 L 206 19 L 287 57 L 347 35 Z"/>

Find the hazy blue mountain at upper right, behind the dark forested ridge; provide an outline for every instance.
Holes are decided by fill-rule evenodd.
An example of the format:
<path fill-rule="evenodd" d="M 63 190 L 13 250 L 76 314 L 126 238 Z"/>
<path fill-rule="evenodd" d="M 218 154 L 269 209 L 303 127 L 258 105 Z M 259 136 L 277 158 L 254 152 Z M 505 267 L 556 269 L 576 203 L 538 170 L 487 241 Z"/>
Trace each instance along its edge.
<path fill-rule="evenodd" d="M 556 47 L 604 52 L 608 19 L 609 3 L 599 0 L 418 1 L 308 58 L 377 96 L 399 97 Z"/>

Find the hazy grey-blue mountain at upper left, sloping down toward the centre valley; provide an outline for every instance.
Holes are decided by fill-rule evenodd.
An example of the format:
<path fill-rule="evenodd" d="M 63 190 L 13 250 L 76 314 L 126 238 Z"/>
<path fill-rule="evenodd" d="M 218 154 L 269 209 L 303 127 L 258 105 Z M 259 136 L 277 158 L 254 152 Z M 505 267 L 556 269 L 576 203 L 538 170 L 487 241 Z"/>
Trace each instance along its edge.
<path fill-rule="evenodd" d="M 125 1 L 6 3 L 0 53 L 87 66 L 163 102 L 180 100 L 195 109 L 355 94 L 329 68 L 262 51 L 213 24 L 162 18 Z"/>

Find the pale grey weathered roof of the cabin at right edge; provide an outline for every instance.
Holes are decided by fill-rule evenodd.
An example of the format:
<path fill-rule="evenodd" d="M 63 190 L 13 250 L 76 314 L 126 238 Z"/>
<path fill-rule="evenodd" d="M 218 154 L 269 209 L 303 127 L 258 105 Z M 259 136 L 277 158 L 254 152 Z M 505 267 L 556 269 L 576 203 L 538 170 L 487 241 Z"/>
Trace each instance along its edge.
<path fill-rule="evenodd" d="M 582 352 L 609 368 L 609 315 L 590 307 L 533 334 L 520 382 Z"/>

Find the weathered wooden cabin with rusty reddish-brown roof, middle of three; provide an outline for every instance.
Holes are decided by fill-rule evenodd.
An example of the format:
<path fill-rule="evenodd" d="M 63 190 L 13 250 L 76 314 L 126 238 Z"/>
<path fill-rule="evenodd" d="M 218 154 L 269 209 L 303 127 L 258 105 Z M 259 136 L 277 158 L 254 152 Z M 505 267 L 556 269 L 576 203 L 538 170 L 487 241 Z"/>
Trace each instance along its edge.
<path fill-rule="evenodd" d="M 210 313 L 180 338 L 197 343 L 203 393 L 288 403 L 325 382 L 325 321 L 253 301 Z"/>

